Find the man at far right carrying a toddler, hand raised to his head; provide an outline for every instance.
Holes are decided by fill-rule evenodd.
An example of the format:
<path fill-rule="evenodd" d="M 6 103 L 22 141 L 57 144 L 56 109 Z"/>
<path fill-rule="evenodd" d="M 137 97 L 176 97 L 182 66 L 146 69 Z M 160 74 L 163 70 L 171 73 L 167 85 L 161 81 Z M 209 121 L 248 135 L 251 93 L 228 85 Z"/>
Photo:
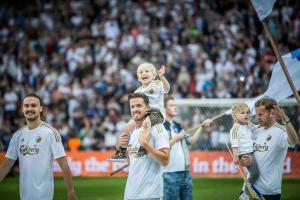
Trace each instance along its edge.
<path fill-rule="evenodd" d="M 260 175 L 255 187 L 265 200 L 281 198 L 283 165 L 288 147 L 298 142 L 298 136 L 287 115 L 275 100 L 262 98 L 255 103 L 259 128 L 254 130 L 254 158 Z M 277 123 L 281 122 L 281 124 Z M 251 157 L 242 158 L 245 165 L 252 163 Z M 240 199 L 249 199 L 243 192 Z"/>

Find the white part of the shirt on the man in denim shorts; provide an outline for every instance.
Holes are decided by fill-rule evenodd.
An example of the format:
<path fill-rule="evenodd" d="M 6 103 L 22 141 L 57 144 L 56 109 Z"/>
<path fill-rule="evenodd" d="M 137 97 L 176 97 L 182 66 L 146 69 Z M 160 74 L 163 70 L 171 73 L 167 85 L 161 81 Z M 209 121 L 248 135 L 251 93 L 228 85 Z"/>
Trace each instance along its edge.
<path fill-rule="evenodd" d="M 174 124 L 171 124 L 171 136 L 172 138 L 178 135 L 174 131 Z M 175 142 L 170 149 L 170 158 L 167 166 L 164 167 L 164 172 L 180 172 L 185 170 L 185 158 L 182 148 L 181 140 Z"/>

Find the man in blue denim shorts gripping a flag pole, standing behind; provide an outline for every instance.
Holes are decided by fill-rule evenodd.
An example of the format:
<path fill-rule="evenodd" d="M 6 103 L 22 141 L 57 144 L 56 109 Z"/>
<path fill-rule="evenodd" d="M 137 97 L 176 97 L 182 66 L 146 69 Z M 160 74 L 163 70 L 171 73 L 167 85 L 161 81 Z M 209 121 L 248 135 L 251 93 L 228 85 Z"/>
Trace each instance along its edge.
<path fill-rule="evenodd" d="M 184 131 L 174 120 L 177 116 L 176 104 L 173 97 L 165 97 L 166 121 L 164 127 L 168 131 L 171 145 L 169 164 L 164 167 L 164 200 L 193 199 L 193 183 L 190 173 L 189 147 L 200 138 L 201 130 L 194 135 Z M 211 119 L 204 122 L 205 126 L 212 123 Z"/>

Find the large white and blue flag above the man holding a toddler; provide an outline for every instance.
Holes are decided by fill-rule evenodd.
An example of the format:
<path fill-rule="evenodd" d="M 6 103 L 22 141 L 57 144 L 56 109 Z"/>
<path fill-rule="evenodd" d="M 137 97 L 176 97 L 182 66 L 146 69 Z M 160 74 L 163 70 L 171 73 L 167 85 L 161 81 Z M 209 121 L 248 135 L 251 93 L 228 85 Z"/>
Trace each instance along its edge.
<path fill-rule="evenodd" d="M 290 52 L 282 56 L 282 60 L 292 78 L 297 91 L 300 90 L 300 48 L 293 52 Z M 256 101 L 263 97 L 269 97 L 277 102 L 284 100 L 291 96 L 293 91 L 284 75 L 284 72 L 280 66 L 279 61 L 275 63 L 272 70 L 272 76 L 269 82 L 268 89 L 263 94 L 251 99 L 245 103 L 249 106 L 251 112 L 254 111 L 254 104 Z M 225 112 L 226 114 L 231 114 L 231 109 Z"/>

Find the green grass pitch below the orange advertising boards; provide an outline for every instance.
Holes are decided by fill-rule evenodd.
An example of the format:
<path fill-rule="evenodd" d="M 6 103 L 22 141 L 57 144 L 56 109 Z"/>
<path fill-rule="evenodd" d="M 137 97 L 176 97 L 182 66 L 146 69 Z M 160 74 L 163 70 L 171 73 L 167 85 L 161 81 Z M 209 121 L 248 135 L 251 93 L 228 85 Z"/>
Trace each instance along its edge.
<path fill-rule="evenodd" d="M 19 199 L 18 178 L 7 177 L 0 183 L 0 199 Z M 121 200 L 126 178 L 74 178 L 76 193 L 79 200 Z M 242 179 L 193 179 L 194 200 L 234 200 Z M 281 200 L 300 199 L 300 180 L 284 180 Z M 54 200 L 67 199 L 67 191 L 62 178 L 55 179 Z"/>

